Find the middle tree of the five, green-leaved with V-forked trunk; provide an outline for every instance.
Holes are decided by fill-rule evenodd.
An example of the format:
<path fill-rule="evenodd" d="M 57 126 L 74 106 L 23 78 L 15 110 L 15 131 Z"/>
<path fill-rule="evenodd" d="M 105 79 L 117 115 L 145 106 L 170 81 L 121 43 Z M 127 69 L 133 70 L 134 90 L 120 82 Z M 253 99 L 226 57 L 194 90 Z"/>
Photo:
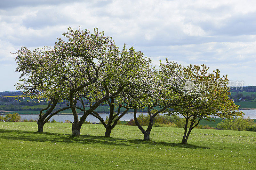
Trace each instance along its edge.
<path fill-rule="evenodd" d="M 140 85 L 138 84 L 139 81 L 137 81 L 138 75 L 141 70 L 149 67 L 150 62 L 150 60 L 146 60 L 143 57 L 143 53 L 136 52 L 133 47 L 127 50 L 124 45 L 120 55 L 116 56 L 112 63 L 109 62 L 108 67 L 105 67 L 100 73 L 102 74 L 100 75 L 102 77 L 101 81 L 94 83 L 93 87 L 88 86 L 87 89 L 85 88 L 91 105 L 96 101 L 100 101 L 104 96 L 108 96 L 107 100 L 104 101 L 105 104 L 109 105 L 108 122 L 104 121 L 96 111 L 93 110 L 91 112 L 106 128 L 105 137 L 110 137 L 111 130 L 116 126 L 118 120 L 130 109 L 132 104 L 125 102 L 129 100 L 128 93 L 134 86 Z M 88 93 L 90 91 L 93 93 Z M 114 93 L 116 95 L 110 95 Z M 80 97 L 80 100 L 82 101 L 83 99 Z M 118 108 L 117 113 L 114 113 L 114 108 Z M 120 112 L 122 108 L 125 110 Z M 83 109 L 78 109 L 86 112 L 84 106 Z"/>

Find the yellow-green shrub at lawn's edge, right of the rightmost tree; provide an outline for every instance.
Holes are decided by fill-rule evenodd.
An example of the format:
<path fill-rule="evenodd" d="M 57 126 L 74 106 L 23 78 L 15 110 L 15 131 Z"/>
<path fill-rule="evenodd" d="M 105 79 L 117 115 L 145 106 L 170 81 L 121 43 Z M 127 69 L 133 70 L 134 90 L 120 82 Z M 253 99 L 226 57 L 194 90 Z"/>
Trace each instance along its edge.
<path fill-rule="evenodd" d="M 247 131 L 253 124 L 255 123 L 249 117 L 246 119 L 240 117 L 237 119 L 224 119 L 217 124 L 217 128 L 231 131 Z"/>

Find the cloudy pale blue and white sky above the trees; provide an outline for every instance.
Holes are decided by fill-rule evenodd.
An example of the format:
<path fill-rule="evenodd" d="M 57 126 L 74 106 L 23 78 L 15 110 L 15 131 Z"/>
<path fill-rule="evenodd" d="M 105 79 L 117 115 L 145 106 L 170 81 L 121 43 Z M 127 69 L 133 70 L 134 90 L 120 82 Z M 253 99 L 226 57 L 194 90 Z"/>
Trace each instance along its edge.
<path fill-rule="evenodd" d="M 0 91 L 15 91 L 21 46 L 54 46 L 68 27 L 99 28 L 122 49 L 134 46 L 158 66 L 205 64 L 230 81 L 256 85 L 255 0 L 1 0 Z"/>

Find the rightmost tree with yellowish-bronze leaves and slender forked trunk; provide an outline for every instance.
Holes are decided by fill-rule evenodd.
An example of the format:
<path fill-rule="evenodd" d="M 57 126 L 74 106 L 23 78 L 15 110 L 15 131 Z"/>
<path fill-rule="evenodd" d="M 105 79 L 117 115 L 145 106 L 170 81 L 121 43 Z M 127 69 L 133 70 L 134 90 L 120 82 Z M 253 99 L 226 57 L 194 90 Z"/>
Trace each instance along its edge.
<path fill-rule="evenodd" d="M 187 144 L 189 134 L 199 124 L 200 120 L 210 121 L 209 118 L 233 118 L 242 116 L 243 112 L 236 112 L 239 105 L 229 99 L 227 75 L 220 76 L 220 71 L 214 70 L 208 73 L 209 67 L 205 65 L 188 66 L 185 72 L 188 76 L 187 88 L 193 93 L 183 97 L 180 104 L 184 106 L 172 106 L 169 113 L 181 114 L 185 120 L 184 135 L 181 144 Z"/>

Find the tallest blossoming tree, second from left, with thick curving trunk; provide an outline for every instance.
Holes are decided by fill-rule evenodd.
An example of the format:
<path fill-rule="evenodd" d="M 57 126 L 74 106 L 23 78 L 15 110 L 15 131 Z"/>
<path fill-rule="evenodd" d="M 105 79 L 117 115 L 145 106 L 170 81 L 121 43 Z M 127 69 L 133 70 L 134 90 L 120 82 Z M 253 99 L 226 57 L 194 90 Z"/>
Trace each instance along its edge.
<path fill-rule="evenodd" d="M 119 49 L 115 42 L 104 35 L 104 32 L 94 30 L 90 34 L 89 30 L 73 30 L 68 28 L 68 32 L 62 34 L 68 40 L 58 39 L 54 46 L 53 71 L 54 80 L 67 90 L 70 107 L 74 116 L 72 124 L 72 135 L 79 136 L 80 129 L 86 117 L 92 113 L 102 102 L 112 96 L 118 95 L 124 87 L 113 92 L 101 95 L 99 100 L 91 102 L 91 107 L 85 110 L 84 100 L 89 100 L 90 95 L 95 95 L 93 87 L 95 83 L 104 84 L 113 76 L 113 61 L 119 56 Z M 111 70 L 108 72 L 109 70 Z M 104 85 L 107 92 L 107 86 Z M 81 102 L 84 111 L 83 116 L 78 120 L 75 102 Z"/>

